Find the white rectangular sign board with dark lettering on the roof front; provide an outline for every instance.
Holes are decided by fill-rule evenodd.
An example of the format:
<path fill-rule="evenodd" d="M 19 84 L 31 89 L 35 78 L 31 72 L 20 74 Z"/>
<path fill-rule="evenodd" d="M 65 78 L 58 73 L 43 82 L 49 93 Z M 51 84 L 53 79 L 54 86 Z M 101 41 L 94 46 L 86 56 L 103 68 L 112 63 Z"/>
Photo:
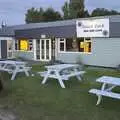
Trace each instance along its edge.
<path fill-rule="evenodd" d="M 78 20 L 77 37 L 109 37 L 109 19 Z"/>

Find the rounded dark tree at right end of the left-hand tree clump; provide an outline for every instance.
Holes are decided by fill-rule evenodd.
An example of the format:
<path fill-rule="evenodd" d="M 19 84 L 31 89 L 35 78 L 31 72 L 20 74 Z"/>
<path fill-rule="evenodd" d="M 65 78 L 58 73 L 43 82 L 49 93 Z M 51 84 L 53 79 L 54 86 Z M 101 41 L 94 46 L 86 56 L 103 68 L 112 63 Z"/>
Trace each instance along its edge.
<path fill-rule="evenodd" d="M 61 14 L 55 11 L 53 8 L 48 8 L 43 14 L 44 21 L 56 21 L 61 20 Z"/>

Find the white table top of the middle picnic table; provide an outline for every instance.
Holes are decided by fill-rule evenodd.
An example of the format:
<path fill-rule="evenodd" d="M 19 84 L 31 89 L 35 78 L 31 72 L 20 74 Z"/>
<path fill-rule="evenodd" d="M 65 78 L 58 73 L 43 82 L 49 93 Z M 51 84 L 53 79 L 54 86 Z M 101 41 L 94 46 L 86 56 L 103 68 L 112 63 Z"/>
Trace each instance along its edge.
<path fill-rule="evenodd" d="M 45 66 L 45 68 L 62 70 L 65 68 L 72 68 L 72 67 L 78 67 L 78 66 L 79 64 L 58 64 L 58 65 Z"/>

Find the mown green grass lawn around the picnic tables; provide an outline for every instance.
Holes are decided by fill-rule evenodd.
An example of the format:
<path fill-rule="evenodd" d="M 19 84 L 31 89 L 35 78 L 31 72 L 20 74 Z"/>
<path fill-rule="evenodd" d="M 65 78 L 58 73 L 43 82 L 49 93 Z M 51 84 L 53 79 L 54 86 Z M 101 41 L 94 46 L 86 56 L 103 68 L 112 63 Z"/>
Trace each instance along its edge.
<path fill-rule="evenodd" d="M 44 67 L 33 66 L 34 71 Z M 0 107 L 13 109 L 20 120 L 120 120 L 120 100 L 104 97 L 96 106 L 97 97 L 88 93 L 90 88 L 101 85 L 95 79 L 103 76 L 120 77 L 120 71 L 86 68 L 84 81 L 65 81 L 62 89 L 57 80 L 41 85 L 42 78 L 17 77 L 10 81 L 12 89 L 0 95 Z M 120 92 L 120 88 L 116 88 Z"/>

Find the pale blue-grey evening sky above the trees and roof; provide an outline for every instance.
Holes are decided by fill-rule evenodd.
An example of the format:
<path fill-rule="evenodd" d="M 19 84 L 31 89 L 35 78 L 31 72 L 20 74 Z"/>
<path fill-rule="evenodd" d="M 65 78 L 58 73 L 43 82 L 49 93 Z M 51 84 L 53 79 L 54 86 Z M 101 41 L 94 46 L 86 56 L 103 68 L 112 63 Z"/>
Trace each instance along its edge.
<path fill-rule="evenodd" d="M 31 7 L 53 7 L 61 10 L 67 0 L 0 0 L 0 23 L 6 21 L 8 25 L 24 24 L 25 13 Z M 85 0 L 86 9 L 108 8 L 120 11 L 120 0 Z"/>

